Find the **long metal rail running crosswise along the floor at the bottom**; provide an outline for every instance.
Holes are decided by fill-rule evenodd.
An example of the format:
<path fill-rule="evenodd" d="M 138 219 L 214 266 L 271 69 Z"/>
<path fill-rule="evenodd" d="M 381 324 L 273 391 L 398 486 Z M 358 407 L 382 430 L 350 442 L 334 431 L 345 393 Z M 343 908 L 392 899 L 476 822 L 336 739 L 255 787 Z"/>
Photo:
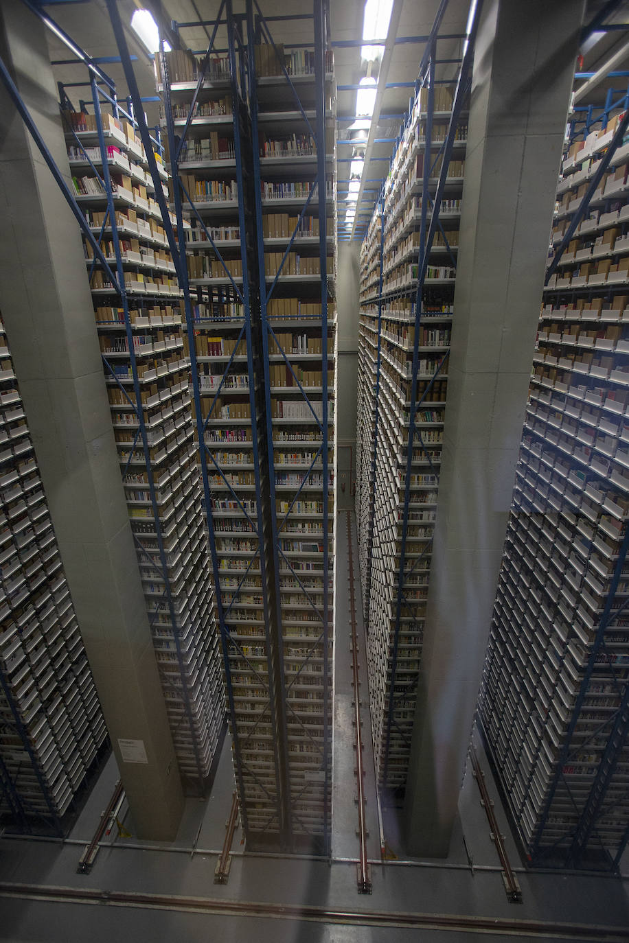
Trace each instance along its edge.
<path fill-rule="evenodd" d="M 131 891 L 93 890 L 54 885 L 0 883 L 0 898 L 41 902 L 105 904 L 109 907 L 138 907 L 216 917 L 304 920 L 345 926 L 400 927 L 412 930 L 460 931 L 476 935 L 513 936 L 515 939 L 588 940 L 591 943 L 625 943 L 629 929 L 609 924 L 569 923 L 555 920 L 476 917 L 468 914 L 430 914 L 408 911 L 350 910 L 308 904 L 253 901 L 220 901 L 174 894 L 147 894 Z"/>

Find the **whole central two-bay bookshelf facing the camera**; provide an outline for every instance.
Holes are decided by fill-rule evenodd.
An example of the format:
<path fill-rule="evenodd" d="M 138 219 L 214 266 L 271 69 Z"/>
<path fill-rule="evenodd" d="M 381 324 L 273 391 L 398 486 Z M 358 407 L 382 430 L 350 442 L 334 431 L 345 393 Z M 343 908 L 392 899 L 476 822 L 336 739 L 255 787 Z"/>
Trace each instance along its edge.
<path fill-rule="evenodd" d="M 192 387 L 242 822 L 249 847 L 325 851 L 334 115 L 313 10 L 318 38 L 310 24 L 285 52 L 253 4 L 245 23 L 226 3 L 213 35 L 227 56 L 212 43 L 166 54 L 160 89 L 174 207 L 190 219 Z"/>

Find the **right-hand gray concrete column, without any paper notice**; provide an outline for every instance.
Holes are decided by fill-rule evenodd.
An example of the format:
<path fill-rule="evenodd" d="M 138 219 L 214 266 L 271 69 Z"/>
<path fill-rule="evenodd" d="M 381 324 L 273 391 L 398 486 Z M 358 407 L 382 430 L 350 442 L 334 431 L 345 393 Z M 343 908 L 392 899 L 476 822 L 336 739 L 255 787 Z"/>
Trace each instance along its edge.
<path fill-rule="evenodd" d="M 448 405 L 407 850 L 446 855 L 521 441 L 583 3 L 485 0 L 474 54 Z"/>

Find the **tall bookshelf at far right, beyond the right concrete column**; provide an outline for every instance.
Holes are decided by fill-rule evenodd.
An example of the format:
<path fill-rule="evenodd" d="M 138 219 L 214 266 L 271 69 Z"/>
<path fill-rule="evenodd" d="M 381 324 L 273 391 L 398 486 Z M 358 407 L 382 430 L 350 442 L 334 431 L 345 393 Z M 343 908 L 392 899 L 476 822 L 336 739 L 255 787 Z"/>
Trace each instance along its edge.
<path fill-rule="evenodd" d="M 529 860 L 629 835 L 626 90 L 574 113 L 557 187 L 480 717 Z"/>

